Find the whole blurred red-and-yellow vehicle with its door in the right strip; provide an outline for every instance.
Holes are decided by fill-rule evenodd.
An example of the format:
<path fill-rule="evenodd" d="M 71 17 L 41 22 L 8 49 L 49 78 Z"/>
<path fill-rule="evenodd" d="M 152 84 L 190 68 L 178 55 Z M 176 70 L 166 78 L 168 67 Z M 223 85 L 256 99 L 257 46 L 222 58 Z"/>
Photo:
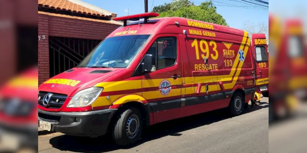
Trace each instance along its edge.
<path fill-rule="evenodd" d="M 306 53 L 303 24 L 288 19 L 285 26 L 269 15 L 270 39 L 270 120 L 283 119 L 293 113 L 298 99 L 306 95 Z"/>

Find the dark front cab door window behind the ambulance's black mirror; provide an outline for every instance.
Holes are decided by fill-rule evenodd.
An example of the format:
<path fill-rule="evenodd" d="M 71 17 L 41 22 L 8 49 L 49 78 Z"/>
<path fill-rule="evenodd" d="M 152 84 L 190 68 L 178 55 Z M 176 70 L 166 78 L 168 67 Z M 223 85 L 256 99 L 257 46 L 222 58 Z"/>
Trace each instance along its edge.
<path fill-rule="evenodd" d="M 163 37 L 157 39 L 146 54 L 154 55 L 157 70 L 175 65 L 177 59 L 177 39 Z"/>

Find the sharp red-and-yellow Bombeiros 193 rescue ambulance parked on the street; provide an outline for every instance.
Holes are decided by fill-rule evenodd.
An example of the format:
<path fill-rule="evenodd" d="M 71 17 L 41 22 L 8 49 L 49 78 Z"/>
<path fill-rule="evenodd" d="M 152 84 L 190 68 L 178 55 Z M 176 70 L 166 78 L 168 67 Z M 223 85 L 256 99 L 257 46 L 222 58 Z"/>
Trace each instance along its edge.
<path fill-rule="evenodd" d="M 242 114 L 254 96 L 256 75 L 268 82 L 264 65 L 257 67 L 266 63 L 263 40 L 252 46 L 245 31 L 185 18 L 148 20 L 157 16 L 115 18 L 124 26 L 76 68 L 41 84 L 40 126 L 73 136 L 109 132 L 125 146 L 162 121 L 221 108 Z M 253 47 L 260 49 L 253 53 Z"/>

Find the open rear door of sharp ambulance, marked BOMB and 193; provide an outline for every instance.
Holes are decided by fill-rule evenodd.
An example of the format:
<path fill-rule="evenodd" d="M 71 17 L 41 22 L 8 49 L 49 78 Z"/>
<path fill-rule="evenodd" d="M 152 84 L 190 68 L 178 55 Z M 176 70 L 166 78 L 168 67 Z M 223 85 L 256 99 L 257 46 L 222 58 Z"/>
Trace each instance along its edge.
<path fill-rule="evenodd" d="M 256 91 L 269 89 L 269 52 L 265 34 L 253 34 L 253 56 L 256 62 Z"/>

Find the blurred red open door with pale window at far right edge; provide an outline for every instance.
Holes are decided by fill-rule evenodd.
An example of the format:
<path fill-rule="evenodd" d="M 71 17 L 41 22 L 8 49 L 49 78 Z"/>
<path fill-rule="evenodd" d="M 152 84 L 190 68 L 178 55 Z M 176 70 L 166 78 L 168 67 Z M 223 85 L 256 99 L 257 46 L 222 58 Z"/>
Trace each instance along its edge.
<path fill-rule="evenodd" d="M 307 52 L 301 19 L 285 21 L 284 49 L 289 60 L 289 89 L 300 99 L 307 97 Z"/>

